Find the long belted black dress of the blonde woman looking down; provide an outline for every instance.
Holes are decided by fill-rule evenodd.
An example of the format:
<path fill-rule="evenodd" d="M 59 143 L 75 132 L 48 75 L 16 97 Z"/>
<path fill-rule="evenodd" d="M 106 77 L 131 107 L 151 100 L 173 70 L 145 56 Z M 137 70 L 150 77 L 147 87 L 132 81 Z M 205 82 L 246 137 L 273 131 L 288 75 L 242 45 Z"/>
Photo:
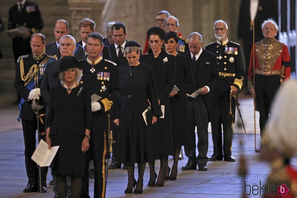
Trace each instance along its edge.
<path fill-rule="evenodd" d="M 115 161 L 119 163 L 152 162 L 151 127 L 146 126 L 142 112 L 148 108 L 149 99 L 153 115 L 158 119 L 161 115 L 153 70 L 142 63 L 136 67 L 126 64 L 119 67 L 119 74 L 123 96 Z"/>

